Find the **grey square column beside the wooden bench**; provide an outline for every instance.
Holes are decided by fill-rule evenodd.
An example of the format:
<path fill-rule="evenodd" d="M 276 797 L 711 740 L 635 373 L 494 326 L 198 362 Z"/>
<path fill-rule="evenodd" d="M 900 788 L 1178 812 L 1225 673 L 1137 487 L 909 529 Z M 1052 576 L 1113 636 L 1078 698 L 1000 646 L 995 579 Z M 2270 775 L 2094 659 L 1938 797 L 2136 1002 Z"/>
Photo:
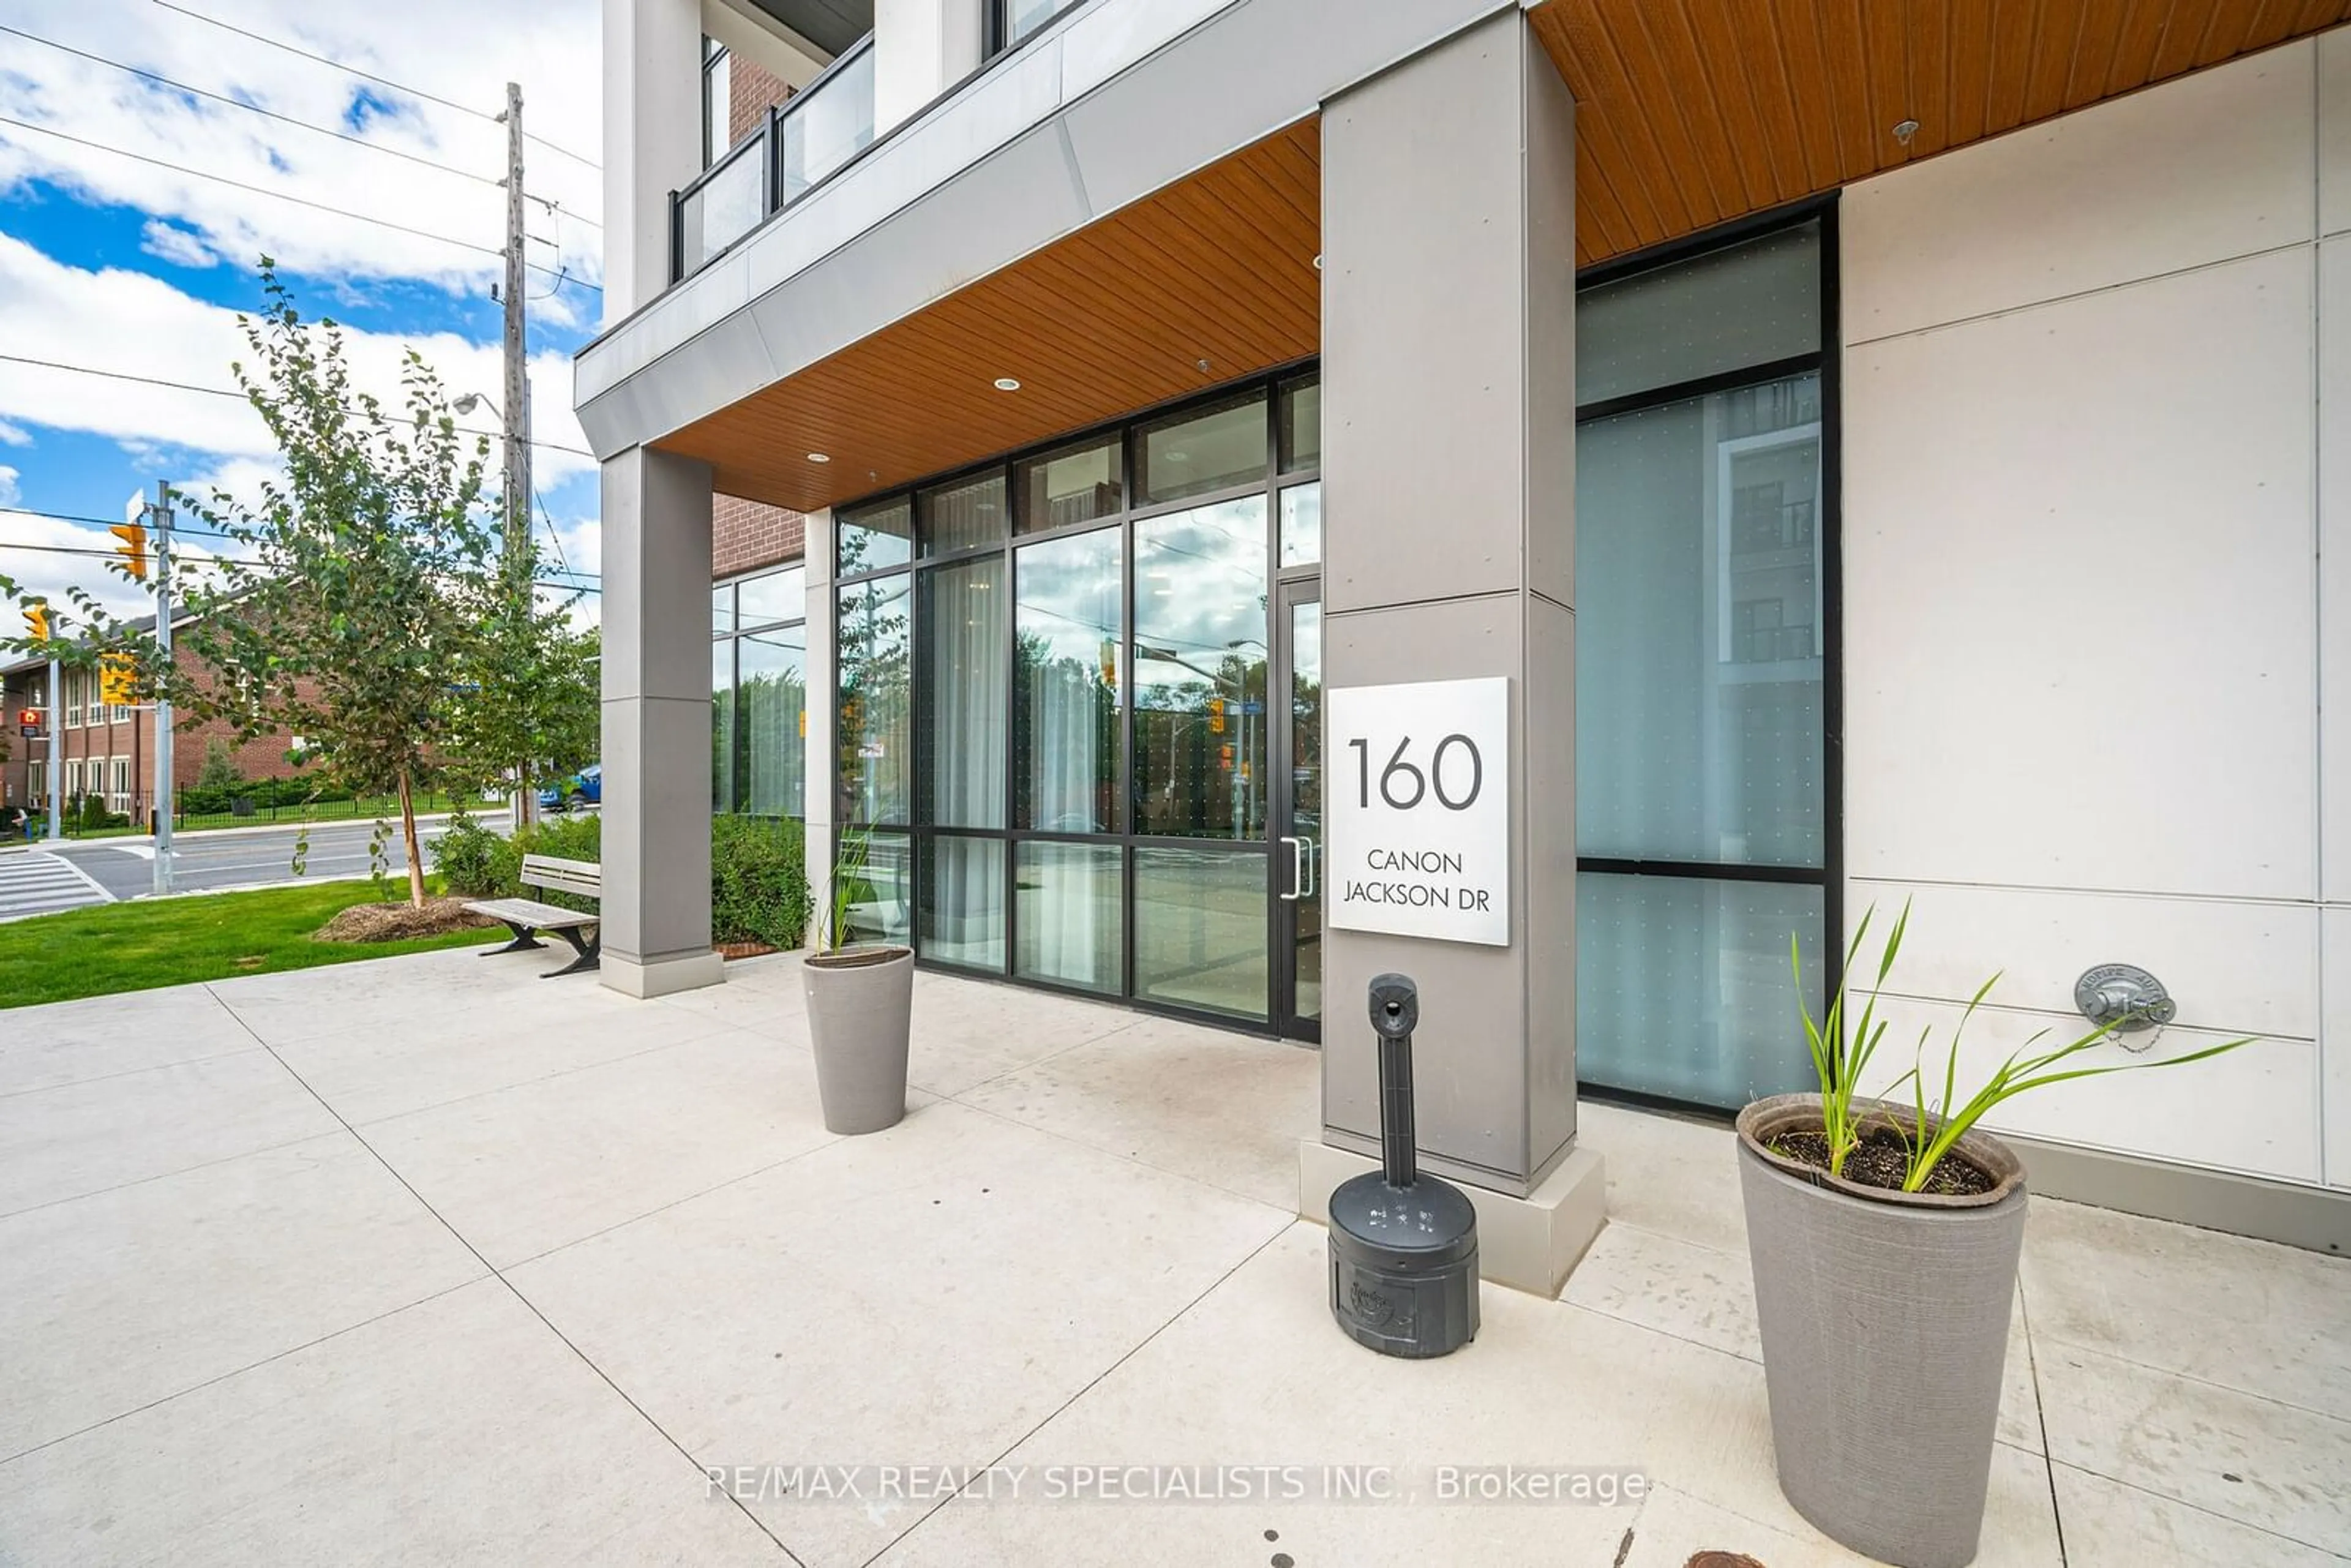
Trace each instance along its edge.
<path fill-rule="evenodd" d="M 710 465 L 604 461 L 604 985 L 717 985 L 710 950 Z"/>

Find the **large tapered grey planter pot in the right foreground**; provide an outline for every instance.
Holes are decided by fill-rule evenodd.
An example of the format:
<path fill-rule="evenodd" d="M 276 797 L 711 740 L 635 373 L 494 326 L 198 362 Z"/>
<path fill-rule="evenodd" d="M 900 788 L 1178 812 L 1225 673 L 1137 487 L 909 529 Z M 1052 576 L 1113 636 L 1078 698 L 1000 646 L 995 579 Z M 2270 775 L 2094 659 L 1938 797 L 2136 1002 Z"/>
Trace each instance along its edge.
<path fill-rule="evenodd" d="M 1991 1192 L 1883 1192 L 1763 1147 L 1794 1131 L 1820 1131 L 1817 1095 L 1740 1112 L 1780 1490 L 1855 1552 L 1963 1568 L 2001 1422 L 2024 1166 L 1989 1133 L 1968 1133 L 1958 1147 L 1996 1178 Z"/>

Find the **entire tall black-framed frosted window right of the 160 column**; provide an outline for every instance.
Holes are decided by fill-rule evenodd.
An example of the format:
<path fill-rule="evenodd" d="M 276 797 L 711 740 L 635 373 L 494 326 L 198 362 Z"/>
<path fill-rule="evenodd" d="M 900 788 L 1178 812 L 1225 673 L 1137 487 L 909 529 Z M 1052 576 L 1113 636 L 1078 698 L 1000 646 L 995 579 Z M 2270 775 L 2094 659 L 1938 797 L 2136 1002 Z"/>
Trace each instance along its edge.
<path fill-rule="evenodd" d="M 1810 1081 L 1836 929 L 1834 341 L 1810 219 L 1578 299 L 1578 1074 Z"/>

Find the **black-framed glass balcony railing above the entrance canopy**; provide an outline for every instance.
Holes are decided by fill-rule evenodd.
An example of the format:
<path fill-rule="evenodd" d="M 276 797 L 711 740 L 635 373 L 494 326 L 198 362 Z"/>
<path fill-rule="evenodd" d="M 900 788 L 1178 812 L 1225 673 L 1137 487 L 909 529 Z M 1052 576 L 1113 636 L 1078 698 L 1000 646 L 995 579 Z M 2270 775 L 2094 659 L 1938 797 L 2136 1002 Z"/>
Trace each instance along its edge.
<path fill-rule="evenodd" d="M 875 40 L 766 110 L 766 122 L 670 195 L 670 282 L 691 277 L 729 244 L 825 181 L 875 139 Z"/>

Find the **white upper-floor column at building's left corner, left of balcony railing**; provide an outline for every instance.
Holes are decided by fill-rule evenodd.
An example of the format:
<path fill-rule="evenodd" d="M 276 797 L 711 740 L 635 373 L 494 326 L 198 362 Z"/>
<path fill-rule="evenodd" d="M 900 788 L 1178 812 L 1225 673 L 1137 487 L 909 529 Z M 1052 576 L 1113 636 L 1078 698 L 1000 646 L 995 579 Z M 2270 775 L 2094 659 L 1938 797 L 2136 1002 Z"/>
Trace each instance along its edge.
<path fill-rule="evenodd" d="M 670 287 L 670 190 L 701 172 L 701 0 L 604 0 L 607 327 Z"/>

